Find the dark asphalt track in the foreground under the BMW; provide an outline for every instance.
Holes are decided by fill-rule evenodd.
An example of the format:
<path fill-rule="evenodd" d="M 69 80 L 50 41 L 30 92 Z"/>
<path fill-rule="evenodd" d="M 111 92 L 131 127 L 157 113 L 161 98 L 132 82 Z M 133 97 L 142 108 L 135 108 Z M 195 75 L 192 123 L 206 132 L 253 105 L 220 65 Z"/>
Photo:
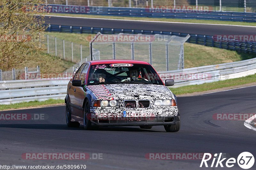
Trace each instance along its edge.
<path fill-rule="evenodd" d="M 86 169 L 241 169 L 199 168 L 201 160 L 148 160 L 147 153 L 226 153 L 255 155 L 255 132 L 244 121 L 213 120 L 215 113 L 255 114 L 256 86 L 201 96 L 178 97 L 181 129 L 165 132 L 163 126 L 68 128 L 65 106 L 4 111 L 45 114 L 41 121 L 1 121 L 0 165 L 81 165 Z M 47 117 L 45 116 L 45 117 Z M 26 160 L 22 153 L 102 153 L 98 160 Z M 209 163 L 211 164 L 211 162 Z M 254 164 L 254 169 L 255 169 Z M 252 167 L 252 169 L 253 169 Z"/>

